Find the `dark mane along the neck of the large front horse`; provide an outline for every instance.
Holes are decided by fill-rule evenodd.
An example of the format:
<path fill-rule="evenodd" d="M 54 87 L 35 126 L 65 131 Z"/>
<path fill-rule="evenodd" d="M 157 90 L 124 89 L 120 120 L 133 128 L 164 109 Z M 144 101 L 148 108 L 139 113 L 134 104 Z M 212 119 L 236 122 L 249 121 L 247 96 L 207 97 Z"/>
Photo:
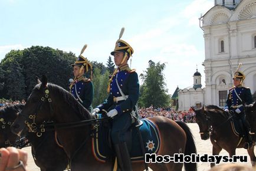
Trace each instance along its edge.
<path fill-rule="evenodd" d="M 37 84 L 35 88 L 40 89 L 41 84 Z M 48 89 L 50 90 L 50 94 L 52 92 L 58 94 L 57 96 L 63 97 L 63 100 L 76 112 L 77 116 L 80 117 L 81 120 L 92 119 L 90 112 L 84 108 L 77 100 L 70 94 L 67 90 L 59 85 L 48 83 Z"/>

